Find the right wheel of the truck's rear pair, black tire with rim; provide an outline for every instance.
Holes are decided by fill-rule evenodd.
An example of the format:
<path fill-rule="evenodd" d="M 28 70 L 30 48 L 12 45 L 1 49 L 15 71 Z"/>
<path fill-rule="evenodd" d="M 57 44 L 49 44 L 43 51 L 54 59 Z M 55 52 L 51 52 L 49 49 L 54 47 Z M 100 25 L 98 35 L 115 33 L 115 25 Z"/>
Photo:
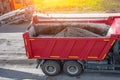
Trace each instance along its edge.
<path fill-rule="evenodd" d="M 76 61 L 67 61 L 63 65 L 63 71 L 70 76 L 79 76 L 83 72 L 83 68 Z"/>

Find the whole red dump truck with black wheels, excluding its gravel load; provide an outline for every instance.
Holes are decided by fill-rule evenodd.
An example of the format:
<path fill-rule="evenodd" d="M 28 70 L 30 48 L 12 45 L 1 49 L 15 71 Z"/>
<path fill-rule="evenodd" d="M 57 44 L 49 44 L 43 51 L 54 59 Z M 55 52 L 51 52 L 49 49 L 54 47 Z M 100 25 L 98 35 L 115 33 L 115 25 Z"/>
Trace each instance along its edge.
<path fill-rule="evenodd" d="M 54 36 L 63 27 L 81 24 L 107 25 L 108 32 L 99 37 Z M 36 59 L 46 75 L 61 71 L 70 76 L 85 71 L 120 73 L 119 14 L 34 14 L 23 39 L 28 59 Z"/>

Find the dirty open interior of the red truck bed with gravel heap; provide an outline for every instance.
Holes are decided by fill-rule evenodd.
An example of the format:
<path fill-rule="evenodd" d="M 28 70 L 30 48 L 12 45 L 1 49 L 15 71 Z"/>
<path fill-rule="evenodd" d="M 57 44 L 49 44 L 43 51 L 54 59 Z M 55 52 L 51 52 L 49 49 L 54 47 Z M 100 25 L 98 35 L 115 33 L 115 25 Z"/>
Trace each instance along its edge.
<path fill-rule="evenodd" d="M 34 27 L 39 37 L 102 37 L 109 30 L 108 25 L 98 23 L 37 24 Z"/>

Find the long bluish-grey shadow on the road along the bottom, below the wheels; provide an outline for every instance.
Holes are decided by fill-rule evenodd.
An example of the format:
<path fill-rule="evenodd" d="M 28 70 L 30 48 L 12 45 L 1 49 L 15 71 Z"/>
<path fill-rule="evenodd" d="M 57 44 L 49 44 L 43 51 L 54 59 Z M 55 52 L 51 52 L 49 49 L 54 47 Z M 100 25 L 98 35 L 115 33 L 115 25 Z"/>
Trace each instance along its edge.
<path fill-rule="evenodd" d="M 19 69 L 18 69 L 19 70 Z M 29 72 L 3 69 L 0 68 L 0 77 L 8 78 L 13 80 L 120 80 L 119 74 L 113 73 L 84 73 L 78 77 L 70 77 L 65 74 L 60 74 L 58 76 L 50 77 L 45 75 L 38 75 Z"/>

